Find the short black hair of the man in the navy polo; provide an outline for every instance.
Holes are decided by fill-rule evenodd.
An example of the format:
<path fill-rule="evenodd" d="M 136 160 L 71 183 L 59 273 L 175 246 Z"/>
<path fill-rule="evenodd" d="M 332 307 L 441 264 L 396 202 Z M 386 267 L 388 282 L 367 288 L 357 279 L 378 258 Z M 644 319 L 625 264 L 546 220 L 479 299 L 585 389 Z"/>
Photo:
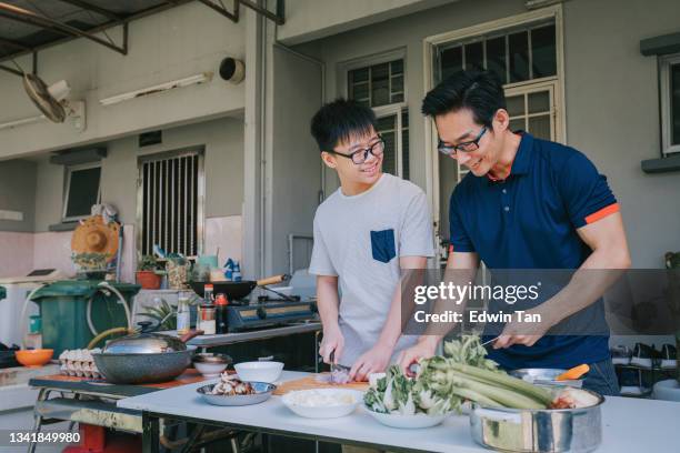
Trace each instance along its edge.
<path fill-rule="evenodd" d="M 500 80 L 489 71 L 460 71 L 434 87 L 422 100 L 422 113 L 437 117 L 470 109 L 478 124 L 491 127 L 498 109 L 506 109 Z"/>

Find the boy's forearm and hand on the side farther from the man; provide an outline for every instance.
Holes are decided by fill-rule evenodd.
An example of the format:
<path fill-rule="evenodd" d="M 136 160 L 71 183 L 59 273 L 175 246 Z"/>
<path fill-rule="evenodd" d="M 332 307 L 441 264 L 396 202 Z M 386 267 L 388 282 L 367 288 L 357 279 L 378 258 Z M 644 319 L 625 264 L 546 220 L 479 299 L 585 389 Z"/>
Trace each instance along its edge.
<path fill-rule="evenodd" d="M 334 363 L 342 355 L 344 349 L 344 338 L 338 324 L 338 276 L 318 275 L 317 276 L 317 308 L 321 324 L 323 325 L 323 340 L 319 348 L 319 354 L 323 362 L 330 363 L 330 355 L 334 351 Z"/>

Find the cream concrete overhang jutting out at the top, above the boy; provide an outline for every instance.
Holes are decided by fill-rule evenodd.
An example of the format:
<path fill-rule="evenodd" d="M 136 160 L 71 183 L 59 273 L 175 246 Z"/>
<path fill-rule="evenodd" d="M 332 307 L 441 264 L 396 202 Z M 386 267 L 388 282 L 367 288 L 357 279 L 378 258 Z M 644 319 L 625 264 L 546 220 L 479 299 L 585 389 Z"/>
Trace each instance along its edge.
<path fill-rule="evenodd" d="M 297 44 L 458 0 L 296 0 L 286 3 L 278 39 Z"/>

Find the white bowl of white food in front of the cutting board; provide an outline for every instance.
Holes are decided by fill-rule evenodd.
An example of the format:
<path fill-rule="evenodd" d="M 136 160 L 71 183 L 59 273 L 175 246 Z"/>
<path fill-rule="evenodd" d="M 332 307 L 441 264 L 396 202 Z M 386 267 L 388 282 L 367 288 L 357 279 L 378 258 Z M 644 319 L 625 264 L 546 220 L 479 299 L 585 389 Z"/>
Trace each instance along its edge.
<path fill-rule="evenodd" d="M 347 399 L 349 402 L 334 401 L 336 397 Z M 316 399 L 322 405 L 306 403 L 308 399 Z M 300 416 L 308 419 L 337 419 L 354 412 L 363 401 L 363 392 L 349 389 L 311 389 L 289 392 L 281 399 L 283 404 Z"/>

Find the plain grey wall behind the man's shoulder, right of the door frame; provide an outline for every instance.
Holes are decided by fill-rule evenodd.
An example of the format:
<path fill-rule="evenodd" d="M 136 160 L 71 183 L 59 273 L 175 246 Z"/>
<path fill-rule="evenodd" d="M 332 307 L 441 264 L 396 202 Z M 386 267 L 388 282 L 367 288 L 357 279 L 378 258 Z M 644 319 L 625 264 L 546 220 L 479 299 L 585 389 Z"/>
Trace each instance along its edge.
<path fill-rule="evenodd" d="M 657 59 L 640 54 L 640 40 L 678 27 L 676 0 L 564 3 L 568 141 L 609 178 L 636 268 L 680 250 L 680 173 L 640 170 L 661 153 Z"/>

